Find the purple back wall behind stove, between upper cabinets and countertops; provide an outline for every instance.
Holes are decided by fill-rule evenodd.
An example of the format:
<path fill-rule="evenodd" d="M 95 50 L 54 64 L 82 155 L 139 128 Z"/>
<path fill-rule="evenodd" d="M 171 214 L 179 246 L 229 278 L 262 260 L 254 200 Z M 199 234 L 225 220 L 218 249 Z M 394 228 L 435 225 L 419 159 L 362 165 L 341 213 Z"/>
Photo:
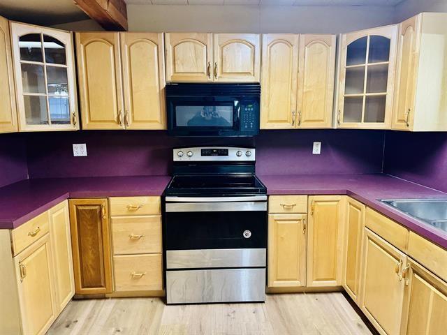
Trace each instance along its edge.
<path fill-rule="evenodd" d="M 262 131 L 255 139 L 175 139 L 164 131 L 81 131 L 27 134 L 31 178 L 170 174 L 173 147 L 256 145 L 258 174 L 379 173 L 383 131 Z M 321 155 L 312 142 L 321 141 Z M 73 157 L 73 143 L 87 157 Z"/>

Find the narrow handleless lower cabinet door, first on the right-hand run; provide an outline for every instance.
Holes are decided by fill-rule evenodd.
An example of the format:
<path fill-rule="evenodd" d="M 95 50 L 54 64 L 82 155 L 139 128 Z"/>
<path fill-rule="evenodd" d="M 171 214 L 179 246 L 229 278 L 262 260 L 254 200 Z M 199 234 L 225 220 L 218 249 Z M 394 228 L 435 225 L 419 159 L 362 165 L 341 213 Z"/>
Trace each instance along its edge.
<path fill-rule="evenodd" d="M 345 222 L 346 270 L 344 274 L 343 287 L 351 298 L 358 302 L 363 230 L 365 228 L 365 205 L 347 197 Z"/>

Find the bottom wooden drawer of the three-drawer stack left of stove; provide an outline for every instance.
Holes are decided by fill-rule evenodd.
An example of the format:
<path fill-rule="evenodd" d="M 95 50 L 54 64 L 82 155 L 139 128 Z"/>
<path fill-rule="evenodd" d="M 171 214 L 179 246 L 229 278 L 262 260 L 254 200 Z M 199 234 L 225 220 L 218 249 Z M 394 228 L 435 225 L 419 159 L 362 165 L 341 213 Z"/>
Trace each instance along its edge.
<path fill-rule="evenodd" d="M 113 256 L 115 289 L 122 291 L 163 290 L 161 253 Z"/>

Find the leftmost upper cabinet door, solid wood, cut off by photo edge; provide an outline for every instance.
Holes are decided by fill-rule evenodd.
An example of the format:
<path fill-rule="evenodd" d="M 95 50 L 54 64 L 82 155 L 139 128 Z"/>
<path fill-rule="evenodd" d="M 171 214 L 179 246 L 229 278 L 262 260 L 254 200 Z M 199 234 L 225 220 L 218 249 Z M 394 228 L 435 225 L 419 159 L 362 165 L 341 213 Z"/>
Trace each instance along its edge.
<path fill-rule="evenodd" d="M 0 133 L 17 130 L 9 22 L 0 17 Z"/>

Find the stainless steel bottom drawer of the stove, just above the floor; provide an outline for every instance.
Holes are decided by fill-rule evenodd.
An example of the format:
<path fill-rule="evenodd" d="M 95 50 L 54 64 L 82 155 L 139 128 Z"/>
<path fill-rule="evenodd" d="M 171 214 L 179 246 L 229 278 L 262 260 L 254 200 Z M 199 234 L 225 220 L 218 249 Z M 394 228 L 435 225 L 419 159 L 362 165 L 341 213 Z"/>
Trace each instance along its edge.
<path fill-rule="evenodd" d="M 265 301 L 264 269 L 166 271 L 168 304 Z"/>

